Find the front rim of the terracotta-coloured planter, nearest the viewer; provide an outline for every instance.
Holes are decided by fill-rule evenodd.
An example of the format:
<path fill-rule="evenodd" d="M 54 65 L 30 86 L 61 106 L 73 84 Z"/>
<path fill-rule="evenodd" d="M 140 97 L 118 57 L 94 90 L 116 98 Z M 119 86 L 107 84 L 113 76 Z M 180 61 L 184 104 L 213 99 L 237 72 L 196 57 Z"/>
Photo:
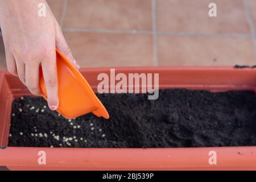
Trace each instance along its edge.
<path fill-rule="evenodd" d="M 49 167 L 72 168 L 228 168 L 255 167 L 256 146 L 198 148 L 48 148 L 7 147 L 0 150 L 0 166 L 40 166 L 38 152 L 45 151 Z M 217 164 L 209 164 L 209 152 Z M 18 152 L 18 154 L 17 154 Z M 74 157 L 75 156 L 75 157 Z M 181 156 L 183 156 L 181 158 Z"/>

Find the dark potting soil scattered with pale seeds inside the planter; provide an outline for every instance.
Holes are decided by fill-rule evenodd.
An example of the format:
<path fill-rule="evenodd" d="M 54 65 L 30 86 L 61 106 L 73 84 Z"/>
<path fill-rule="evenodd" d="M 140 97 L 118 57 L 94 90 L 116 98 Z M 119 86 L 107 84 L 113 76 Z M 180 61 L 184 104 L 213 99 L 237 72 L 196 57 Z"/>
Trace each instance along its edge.
<path fill-rule="evenodd" d="M 13 102 L 9 146 L 210 147 L 256 145 L 254 92 L 160 90 L 147 94 L 98 94 L 110 119 L 93 114 L 65 119 L 43 98 Z M 85 103 L 86 104 L 86 103 Z M 43 110 L 42 110 L 43 109 Z"/>

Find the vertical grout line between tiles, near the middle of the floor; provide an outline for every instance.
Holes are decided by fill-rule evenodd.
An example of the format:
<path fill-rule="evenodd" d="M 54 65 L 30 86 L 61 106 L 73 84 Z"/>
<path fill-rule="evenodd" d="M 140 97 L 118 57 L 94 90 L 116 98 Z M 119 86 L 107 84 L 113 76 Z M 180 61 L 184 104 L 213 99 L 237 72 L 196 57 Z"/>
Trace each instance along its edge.
<path fill-rule="evenodd" d="M 154 64 L 159 65 L 158 62 L 158 34 L 157 34 L 157 0 L 151 0 L 152 3 L 152 34 L 153 34 L 153 50 L 154 50 Z"/>

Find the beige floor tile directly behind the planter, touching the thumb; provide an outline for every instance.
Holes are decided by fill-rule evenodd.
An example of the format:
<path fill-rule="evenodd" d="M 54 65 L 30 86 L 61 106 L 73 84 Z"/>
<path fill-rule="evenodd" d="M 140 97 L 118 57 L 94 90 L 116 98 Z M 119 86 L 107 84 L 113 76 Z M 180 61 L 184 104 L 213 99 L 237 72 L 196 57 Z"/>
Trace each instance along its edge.
<path fill-rule="evenodd" d="M 65 32 L 81 67 L 154 65 L 151 35 Z"/>

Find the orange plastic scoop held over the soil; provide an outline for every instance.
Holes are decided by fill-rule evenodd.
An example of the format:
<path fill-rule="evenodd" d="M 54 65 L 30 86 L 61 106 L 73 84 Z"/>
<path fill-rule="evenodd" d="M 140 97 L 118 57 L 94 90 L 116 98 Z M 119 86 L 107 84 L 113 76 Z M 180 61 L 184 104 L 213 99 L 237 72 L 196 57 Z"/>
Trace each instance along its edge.
<path fill-rule="evenodd" d="M 109 118 L 109 113 L 94 94 L 92 88 L 75 66 L 56 49 L 59 107 L 57 112 L 65 118 L 76 118 L 92 112 L 97 117 Z M 46 86 L 40 67 L 40 89 L 47 100 Z"/>

